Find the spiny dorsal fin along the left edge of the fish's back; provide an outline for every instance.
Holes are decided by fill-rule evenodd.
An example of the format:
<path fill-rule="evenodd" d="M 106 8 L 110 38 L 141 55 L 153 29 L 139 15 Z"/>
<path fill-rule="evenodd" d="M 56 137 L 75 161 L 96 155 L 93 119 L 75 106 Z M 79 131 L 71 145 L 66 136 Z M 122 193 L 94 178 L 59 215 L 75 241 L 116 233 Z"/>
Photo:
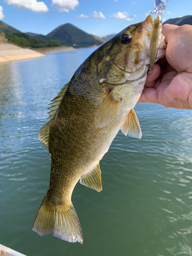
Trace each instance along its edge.
<path fill-rule="evenodd" d="M 41 127 L 40 131 L 39 131 L 39 135 L 38 138 L 40 140 L 40 142 L 47 148 L 47 150 L 49 150 L 49 131 L 50 131 L 50 125 L 51 122 L 53 120 L 53 118 L 55 117 L 55 114 L 59 108 L 60 102 L 63 98 L 63 96 L 65 95 L 68 87 L 70 86 L 70 84 L 72 83 L 73 79 L 74 79 L 75 75 L 73 75 L 73 77 L 71 78 L 70 82 L 68 82 L 58 93 L 58 95 L 52 100 L 53 102 L 50 103 L 50 108 L 48 110 L 51 110 L 48 114 L 49 114 L 49 118 L 50 121 L 48 123 L 46 123 L 44 126 Z"/>

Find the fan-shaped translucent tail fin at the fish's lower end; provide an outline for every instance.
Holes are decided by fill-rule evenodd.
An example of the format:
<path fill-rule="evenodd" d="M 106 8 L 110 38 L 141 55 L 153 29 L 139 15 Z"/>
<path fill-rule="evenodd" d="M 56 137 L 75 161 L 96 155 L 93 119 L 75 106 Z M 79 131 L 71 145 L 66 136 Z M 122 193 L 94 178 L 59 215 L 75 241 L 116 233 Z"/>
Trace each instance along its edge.
<path fill-rule="evenodd" d="M 62 211 L 50 208 L 42 201 L 32 229 L 41 237 L 52 234 L 67 242 L 83 243 L 81 225 L 72 204 Z"/>

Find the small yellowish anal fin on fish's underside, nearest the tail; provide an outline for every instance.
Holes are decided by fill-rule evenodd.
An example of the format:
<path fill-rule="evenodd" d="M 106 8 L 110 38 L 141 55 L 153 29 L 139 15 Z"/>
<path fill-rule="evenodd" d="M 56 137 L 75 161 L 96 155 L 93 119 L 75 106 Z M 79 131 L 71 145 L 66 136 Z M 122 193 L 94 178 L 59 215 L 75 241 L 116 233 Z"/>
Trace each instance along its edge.
<path fill-rule="evenodd" d="M 96 165 L 96 167 L 90 173 L 88 173 L 86 176 L 84 176 L 80 179 L 80 183 L 82 185 L 85 185 L 87 187 L 95 189 L 98 192 L 100 192 L 102 190 L 101 170 L 99 167 L 99 163 Z"/>

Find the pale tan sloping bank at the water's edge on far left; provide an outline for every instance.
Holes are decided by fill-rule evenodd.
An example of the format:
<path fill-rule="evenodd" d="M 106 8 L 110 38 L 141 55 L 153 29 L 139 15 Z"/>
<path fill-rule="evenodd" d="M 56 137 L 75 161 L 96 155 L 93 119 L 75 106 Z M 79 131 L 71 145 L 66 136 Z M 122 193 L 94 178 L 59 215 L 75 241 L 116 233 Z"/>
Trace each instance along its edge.
<path fill-rule="evenodd" d="M 0 42 L 0 62 L 31 59 L 43 56 L 45 56 L 45 54 L 33 51 L 31 49 L 24 49 L 8 44 L 7 42 Z"/>

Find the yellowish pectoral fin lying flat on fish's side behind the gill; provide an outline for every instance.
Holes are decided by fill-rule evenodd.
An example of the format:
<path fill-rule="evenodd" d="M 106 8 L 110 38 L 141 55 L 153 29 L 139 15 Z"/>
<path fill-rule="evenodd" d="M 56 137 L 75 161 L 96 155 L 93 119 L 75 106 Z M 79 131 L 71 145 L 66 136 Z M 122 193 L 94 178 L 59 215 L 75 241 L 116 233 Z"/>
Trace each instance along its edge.
<path fill-rule="evenodd" d="M 114 90 L 104 98 L 95 117 L 97 128 L 104 127 L 115 119 L 121 100 L 121 97 Z"/>

